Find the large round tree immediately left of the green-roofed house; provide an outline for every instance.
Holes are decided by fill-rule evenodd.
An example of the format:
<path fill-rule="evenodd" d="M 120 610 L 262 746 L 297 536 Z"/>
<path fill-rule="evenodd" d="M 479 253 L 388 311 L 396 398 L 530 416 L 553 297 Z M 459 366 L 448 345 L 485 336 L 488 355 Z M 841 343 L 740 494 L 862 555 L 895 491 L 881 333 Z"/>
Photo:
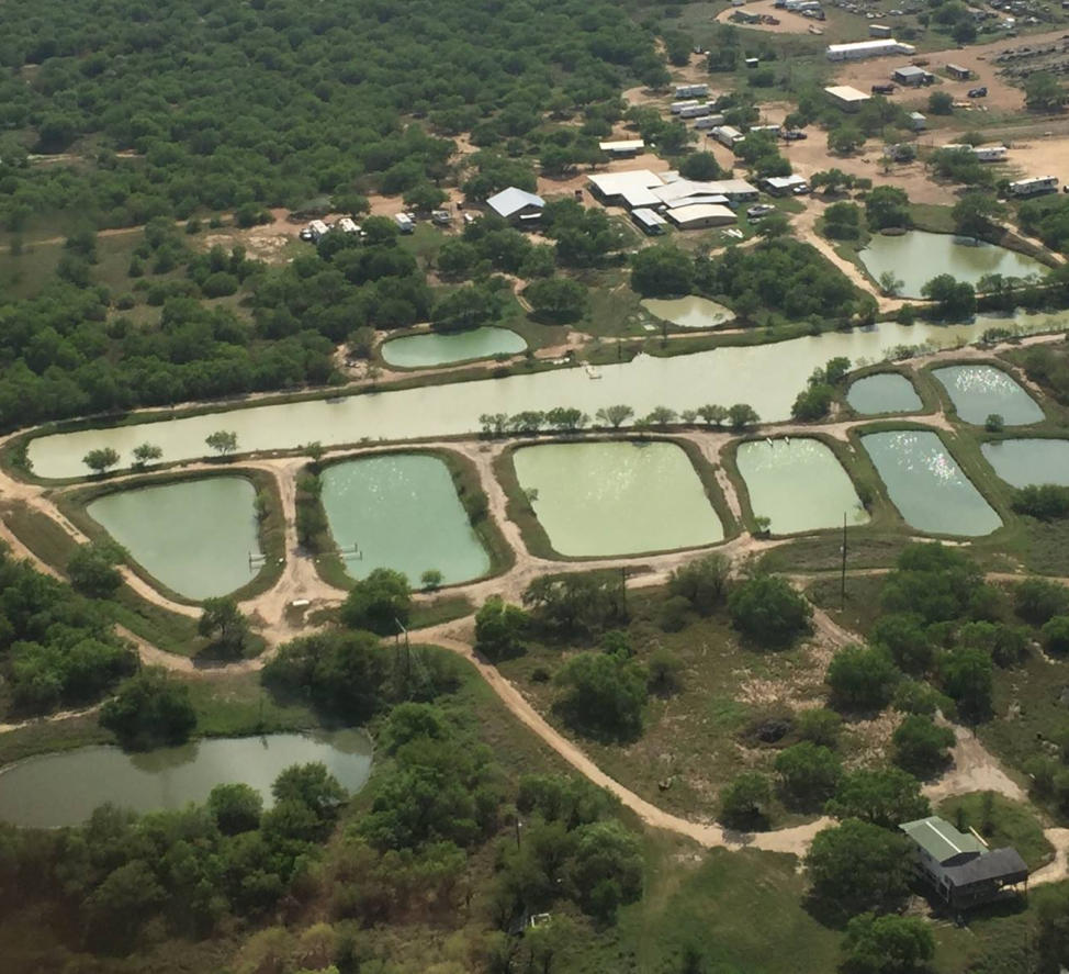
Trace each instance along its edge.
<path fill-rule="evenodd" d="M 831 913 L 887 913 L 904 903 L 911 872 L 905 836 L 856 818 L 813 837 L 806 869 L 813 896 Z"/>

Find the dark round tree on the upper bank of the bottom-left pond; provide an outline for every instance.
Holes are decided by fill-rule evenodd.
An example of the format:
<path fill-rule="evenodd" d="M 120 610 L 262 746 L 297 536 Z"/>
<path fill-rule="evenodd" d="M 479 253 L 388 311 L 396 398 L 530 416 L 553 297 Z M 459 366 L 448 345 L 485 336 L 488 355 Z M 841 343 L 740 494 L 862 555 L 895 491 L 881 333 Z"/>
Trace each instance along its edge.
<path fill-rule="evenodd" d="M 166 670 L 146 667 L 100 708 L 100 726 L 123 747 L 149 750 L 183 743 L 196 727 L 196 712 L 187 684 Z"/>

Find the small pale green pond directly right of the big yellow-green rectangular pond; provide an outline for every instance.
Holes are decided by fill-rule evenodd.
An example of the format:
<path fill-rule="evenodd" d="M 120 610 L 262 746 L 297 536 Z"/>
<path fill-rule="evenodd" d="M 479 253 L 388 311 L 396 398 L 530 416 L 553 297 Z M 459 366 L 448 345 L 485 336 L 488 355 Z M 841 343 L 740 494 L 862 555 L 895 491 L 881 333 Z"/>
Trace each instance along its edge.
<path fill-rule="evenodd" d="M 866 524 L 868 512 L 835 455 L 811 437 L 740 444 L 739 472 L 755 516 L 778 535 Z"/>

